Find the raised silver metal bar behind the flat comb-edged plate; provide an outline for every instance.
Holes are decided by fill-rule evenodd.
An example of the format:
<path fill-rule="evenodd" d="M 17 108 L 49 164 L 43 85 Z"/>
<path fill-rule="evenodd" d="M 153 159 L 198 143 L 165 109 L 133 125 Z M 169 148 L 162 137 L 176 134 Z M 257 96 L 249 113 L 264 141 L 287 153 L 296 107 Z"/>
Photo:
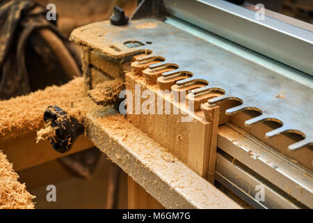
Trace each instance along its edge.
<path fill-rule="evenodd" d="M 164 0 L 171 15 L 313 75 L 313 33 L 221 0 Z M 307 26 L 313 27 L 312 24 Z M 312 28 L 311 28 L 312 29 Z"/>

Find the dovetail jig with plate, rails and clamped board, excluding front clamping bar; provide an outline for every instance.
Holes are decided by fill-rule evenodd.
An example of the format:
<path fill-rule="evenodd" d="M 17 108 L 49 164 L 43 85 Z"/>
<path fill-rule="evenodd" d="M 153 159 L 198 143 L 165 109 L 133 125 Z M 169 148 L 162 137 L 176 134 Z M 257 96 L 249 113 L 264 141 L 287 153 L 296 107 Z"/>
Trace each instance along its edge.
<path fill-rule="evenodd" d="M 84 47 L 90 89 L 121 78 L 194 118 L 126 115 L 209 183 L 253 208 L 313 208 L 312 24 L 267 10 L 257 20 L 248 6 L 139 1 L 129 21 L 117 8 L 70 39 Z"/>

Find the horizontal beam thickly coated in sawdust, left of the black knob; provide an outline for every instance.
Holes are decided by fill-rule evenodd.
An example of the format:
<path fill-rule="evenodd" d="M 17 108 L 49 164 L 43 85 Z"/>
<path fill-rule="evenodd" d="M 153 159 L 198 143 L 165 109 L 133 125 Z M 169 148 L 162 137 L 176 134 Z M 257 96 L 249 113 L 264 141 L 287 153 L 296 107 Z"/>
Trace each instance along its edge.
<path fill-rule="evenodd" d="M 29 95 L 0 101 L 0 141 L 43 128 L 43 114 L 49 105 L 61 107 L 81 123 L 87 112 L 103 112 L 105 107 L 96 105 L 87 91 L 83 77 L 77 77 L 63 86 L 49 86 Z"/>

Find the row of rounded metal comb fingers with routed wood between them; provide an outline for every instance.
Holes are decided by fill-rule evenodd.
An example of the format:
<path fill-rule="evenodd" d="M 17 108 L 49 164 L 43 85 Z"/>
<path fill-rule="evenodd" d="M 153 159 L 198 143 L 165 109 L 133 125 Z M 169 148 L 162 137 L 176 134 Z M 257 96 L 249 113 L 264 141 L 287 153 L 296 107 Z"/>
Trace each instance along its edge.
<path fill-rule="evenodd" d="M 246 110 L 254 110 L 259 112 L 260 115 L 246 120 L 245 125 L 253 125 L 260 121 L 275 121 L 281 125 L 279 128 L 266 132 L 265 137 L 275 137 L 284 132 L 299 134 L 303 137 L 303 140 L 290 145 L 289 149 L 291 150 L 312 144 L 312 142 L 305 139 L 303 132 L 294 130 L 288 125 L 283 125 L 282 121 L 273 118 L 268 112 L 263 114 L 262 109 L 253 103 L 252 96 L 250 99 L 246 98 L 246 101 L 243 101 L 240 97 L 232 95 L 231 92 L 225 92 L 223 84 L 214 81 L 209 83 L 206 77 L 193 75 L 193 72 L 179 68 L 177 64 L 166 61 L 162 56 L 153 54 L 139 55 L 136 56 L 136 60 L 131 63 L 131 66 L 141 69 L 141 74 L 145 77 L 147 84 L 158 84 L 161 90 L 171 90 L 172 94 L 176 95 L 173 97 L 175 101 L 188 103 L 188 107 L 192 108 L 193 111 L 202 109 L 207 121 L 211 120 L 211 107 L 215 107 L 225 100 L 236 100 L 240 102 L 240 105 L 234 104 L 232 107 L 225 109 L 225 114 L 220 115 L 231 116 Z"/>

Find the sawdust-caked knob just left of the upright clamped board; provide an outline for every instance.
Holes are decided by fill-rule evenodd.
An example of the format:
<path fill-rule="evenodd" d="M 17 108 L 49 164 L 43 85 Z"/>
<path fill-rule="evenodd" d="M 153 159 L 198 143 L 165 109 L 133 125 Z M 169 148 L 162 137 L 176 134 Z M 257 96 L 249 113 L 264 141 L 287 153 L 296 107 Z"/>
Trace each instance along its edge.
<path fill-rule="evenodd" d="M 117 102 L 120 91 L 125 89 L 125 83 L 121 79 L 97 84 L 93 90 L 88 91 L 88 95 L 97 105 L 111 105 Z"/>

